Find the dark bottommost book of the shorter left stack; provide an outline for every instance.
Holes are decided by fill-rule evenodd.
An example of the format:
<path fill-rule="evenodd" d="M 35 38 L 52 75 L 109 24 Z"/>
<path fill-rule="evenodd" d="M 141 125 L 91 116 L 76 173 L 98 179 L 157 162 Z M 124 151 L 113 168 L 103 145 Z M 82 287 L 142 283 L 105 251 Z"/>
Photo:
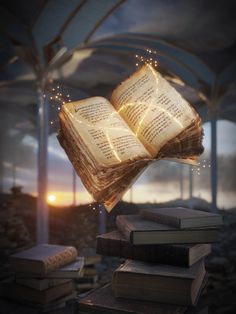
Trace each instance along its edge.
<path fill-rule="evenodd" d="M 71 295 L 74 291 L 72 281 L 39 291 L 16 283 L 5 284 L 2 296 L 13 300 L 20 300 L 41 305 L 49 304 L 59 298 Z"/>

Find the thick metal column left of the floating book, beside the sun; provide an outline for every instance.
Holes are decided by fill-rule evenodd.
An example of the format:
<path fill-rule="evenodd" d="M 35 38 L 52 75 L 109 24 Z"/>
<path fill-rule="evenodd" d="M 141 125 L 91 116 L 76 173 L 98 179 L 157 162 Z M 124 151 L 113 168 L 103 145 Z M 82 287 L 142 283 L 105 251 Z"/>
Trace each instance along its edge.
<path fill-rule="evenodd" d="M 44 86 L 38 87 L 38 200 L 37 200 L 37 243 L 48 243 L 48 100 L 44 98 Z"/>

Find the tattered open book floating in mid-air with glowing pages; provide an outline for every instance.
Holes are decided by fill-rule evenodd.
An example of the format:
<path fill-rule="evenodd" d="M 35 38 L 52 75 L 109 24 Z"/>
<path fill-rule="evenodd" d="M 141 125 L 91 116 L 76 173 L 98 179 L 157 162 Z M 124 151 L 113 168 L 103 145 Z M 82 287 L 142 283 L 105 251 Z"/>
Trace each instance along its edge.
<path fill-rule="evenodd" d="M 59 119 L 60 144 L 108 211 L 153 160 L 194 161 L 203 152 L 199 115 L 150 65 L 121 83 L 110 101 L 66 103 Z"/>

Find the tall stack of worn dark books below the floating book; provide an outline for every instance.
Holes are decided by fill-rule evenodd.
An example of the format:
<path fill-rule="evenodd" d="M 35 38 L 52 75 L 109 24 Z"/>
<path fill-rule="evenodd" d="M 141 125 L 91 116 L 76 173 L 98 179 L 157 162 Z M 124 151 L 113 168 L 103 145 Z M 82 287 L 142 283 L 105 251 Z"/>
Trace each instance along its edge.
<path fill-rule="evenodd" d="M 79 313 L 185 313 L 206 284 L 204 257 L 222 223 L 221 215 L 180 207 L 117 216 L 117 230 L 97 237 L 97 253 L 127 260 L 111 285 L 80 301 Z"/>

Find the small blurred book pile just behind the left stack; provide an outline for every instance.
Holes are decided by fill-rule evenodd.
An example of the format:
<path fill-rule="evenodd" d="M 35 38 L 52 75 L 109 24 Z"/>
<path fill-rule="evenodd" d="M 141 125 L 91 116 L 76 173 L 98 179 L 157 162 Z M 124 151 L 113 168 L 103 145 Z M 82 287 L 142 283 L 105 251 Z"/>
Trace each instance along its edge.
<path fill-rule="evenodd" d="M 79 293 L 84 293 L 99 286 L 97 263 L 101 262 L 101 256 L 97 255 L 92 248 L 82 250 L 82 255 L 84 256 L 83 277 L 76 280 Z"/>

